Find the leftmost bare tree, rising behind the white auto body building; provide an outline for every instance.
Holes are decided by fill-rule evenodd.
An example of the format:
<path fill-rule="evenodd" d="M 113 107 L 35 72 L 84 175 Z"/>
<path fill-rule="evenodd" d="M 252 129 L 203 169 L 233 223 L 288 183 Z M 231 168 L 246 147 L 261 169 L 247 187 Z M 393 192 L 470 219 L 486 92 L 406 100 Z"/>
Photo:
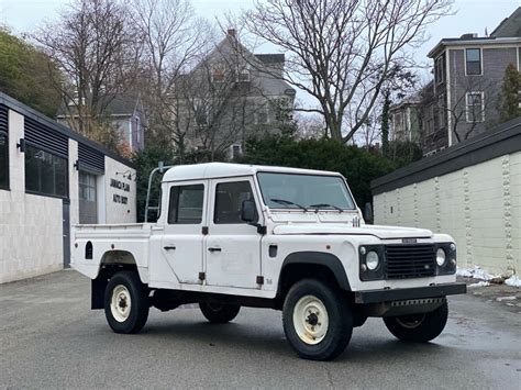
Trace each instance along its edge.
<path fill-rule="evenodd" d="M 69 125 L 89 137 L 106 137 L 96 133 L 107 107 L 131 86 L 141 54 L 126 7 L 117 0 L 76 0 L 33 38 L 66 76 L 56 88 Z"/>

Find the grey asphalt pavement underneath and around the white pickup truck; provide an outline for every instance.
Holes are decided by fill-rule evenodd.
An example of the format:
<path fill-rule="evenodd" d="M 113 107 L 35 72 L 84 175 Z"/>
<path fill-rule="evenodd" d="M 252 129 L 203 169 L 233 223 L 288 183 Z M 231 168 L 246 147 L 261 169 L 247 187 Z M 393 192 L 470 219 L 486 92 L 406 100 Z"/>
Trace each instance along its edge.
<path fill-rule="evenodd" d="M 337 360 L 317 363 L 292 353 L 273 310 L 211 325 L 198 309 L 153 309 L 143 333 L 118 335 L 89 289 L 71 270 L 0 286 L 0 388 L 521 388 L 521 314 L 472 296 L 450 299 L 433 343 L 400 343 L 369 319 Z"/>

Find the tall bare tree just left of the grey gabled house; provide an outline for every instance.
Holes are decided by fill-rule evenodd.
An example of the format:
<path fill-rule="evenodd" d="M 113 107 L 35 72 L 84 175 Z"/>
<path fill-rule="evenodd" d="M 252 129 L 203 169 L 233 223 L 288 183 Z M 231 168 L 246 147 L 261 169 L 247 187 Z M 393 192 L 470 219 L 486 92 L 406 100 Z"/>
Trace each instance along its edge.
<path fill-rule="evenodd" d="M 144 42 L 141 90 L 154 136 L 185 148 L 177 116 L 176 85 L 208 52 L 212 29 L 196 16 L 189 0 L 134 0 L 132 19 Z"/>

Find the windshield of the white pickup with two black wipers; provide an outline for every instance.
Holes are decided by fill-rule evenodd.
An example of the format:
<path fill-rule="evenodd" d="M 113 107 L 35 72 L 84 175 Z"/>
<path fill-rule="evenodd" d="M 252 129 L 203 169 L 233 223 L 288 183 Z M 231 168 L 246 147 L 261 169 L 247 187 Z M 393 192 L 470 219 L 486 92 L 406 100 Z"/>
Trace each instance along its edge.
<path fill-rule="evenodd" d="M 258 172 L 264 203 L 271 209 L 354 210 L 340 176 Z"/>

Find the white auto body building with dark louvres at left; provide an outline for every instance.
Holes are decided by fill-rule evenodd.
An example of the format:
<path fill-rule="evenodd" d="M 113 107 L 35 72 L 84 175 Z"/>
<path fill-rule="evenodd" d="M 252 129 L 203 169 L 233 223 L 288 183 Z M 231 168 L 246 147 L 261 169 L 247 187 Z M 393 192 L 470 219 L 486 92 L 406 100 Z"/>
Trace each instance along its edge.
<path fill-rule="evenodd" d="M 0 282 L 68 266 L 70 226 L 136 220 L 132 164 L 0 92 Z"/>

